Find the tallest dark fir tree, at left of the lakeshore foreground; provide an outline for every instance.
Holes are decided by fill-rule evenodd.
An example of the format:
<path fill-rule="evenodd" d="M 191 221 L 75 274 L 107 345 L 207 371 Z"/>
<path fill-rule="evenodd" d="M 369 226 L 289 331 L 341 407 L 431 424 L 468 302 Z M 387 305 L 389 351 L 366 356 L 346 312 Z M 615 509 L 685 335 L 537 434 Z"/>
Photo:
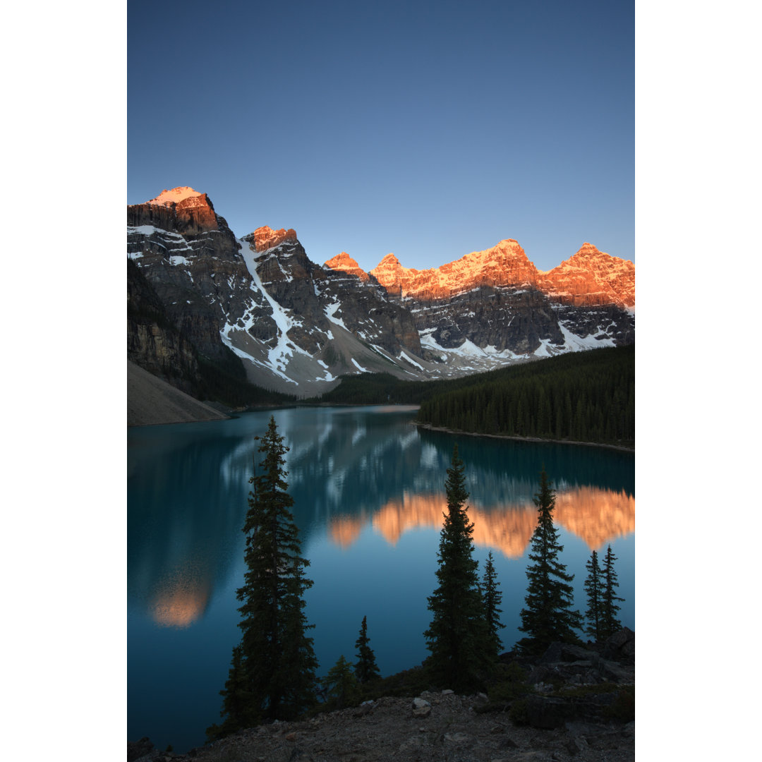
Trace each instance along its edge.
<path fill-rule="evenodd" d="M 293 498 L 283 468 L 288 449 L 271 417 L 259 447 L 261 473 L 249 479 L 254 486 L 243 527 L 246 571 L 237 591 L 242 640 L 221 691 L 225 720 L 207 730 L 210 738 L 266 720 L 294 719 L 315 700 L 318 663 L 304 614 L 312 581 L 304 573 L 309 561 L 301 555 L 290 512 Z"/>

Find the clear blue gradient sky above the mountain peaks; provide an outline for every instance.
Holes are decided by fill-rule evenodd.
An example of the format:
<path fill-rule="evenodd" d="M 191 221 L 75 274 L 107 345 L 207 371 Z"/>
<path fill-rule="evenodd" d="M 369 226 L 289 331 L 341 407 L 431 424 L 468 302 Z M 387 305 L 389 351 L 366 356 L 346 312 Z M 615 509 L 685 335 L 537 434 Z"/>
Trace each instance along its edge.
<path fill-rule="evenodd" d="M 190 185 L 312 261 L 635 257 L 632 2 L 127 3 L 127 203 Z"/>

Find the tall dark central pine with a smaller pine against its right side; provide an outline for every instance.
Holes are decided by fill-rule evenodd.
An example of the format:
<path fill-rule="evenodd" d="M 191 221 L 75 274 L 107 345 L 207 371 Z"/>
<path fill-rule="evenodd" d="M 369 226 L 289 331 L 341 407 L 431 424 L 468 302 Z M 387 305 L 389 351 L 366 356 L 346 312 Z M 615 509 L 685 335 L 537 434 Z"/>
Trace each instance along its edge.
<path fill-rule="evenodd" d="M 469 493 L 457 445 L 445 488 L 447 513 L 437 552 L 439 585 L 427 599 L 433 618 L 424 636 L 434 680 L 466 690 L 479 685 L 478 673 L 491 661 L 491 644 L 479 591 L 479 562 L 472 558 L 473 524 L 466 512 Z"/>

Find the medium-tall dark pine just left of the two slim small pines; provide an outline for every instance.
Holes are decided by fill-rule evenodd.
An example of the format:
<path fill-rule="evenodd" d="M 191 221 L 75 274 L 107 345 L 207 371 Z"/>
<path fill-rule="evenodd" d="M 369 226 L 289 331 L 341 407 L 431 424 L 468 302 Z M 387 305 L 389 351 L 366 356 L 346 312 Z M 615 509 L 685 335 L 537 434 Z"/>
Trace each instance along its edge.
<path fill-rule="evenodd" d="M 532 535 L 532 550 L 527 567 L 527 604 L 521 610 L 521 632 L 527 637 L 519 642 L 520 648 L 530 654 L 541 654 L 554 641 L 579 642 L 574 630 L 582 626 L 578 611 L 571 609 L 574 591 L 571 581 L 574 575 L 566 573 L 566 567 L 558 557 L 564 546 L 559 545 L 558 530 L 553 526 L 555 490 L 550 486 L 548 475 L 540 474 L 539 492 L 534 497 L 537 506 L 537 527 Z"/>

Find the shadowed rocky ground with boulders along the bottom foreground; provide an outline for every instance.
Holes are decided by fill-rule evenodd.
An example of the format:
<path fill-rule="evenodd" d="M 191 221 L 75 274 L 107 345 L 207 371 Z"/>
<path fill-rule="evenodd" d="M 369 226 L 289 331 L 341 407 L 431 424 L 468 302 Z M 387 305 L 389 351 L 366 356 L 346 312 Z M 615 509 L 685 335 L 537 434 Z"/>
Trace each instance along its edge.
<path fill-rule="evenodd" d="M 617 636 L 614 636 L 616 639 Z M 618 645 L 616 645 L 618 643 Z M 556 644 L 523 664 L 530 693 L 385 696 L 303 722 L 274 722 L 187 754 L 128 744 L 128 762 L 498 762 L 635 759 L 634 633 L 591 649 Z M 632 700 L 632 706 L 628 702 Z M 520 709 L 517 712 L 517 709 Z M 517 725 L 518 718 L 522 724 Z"/>

